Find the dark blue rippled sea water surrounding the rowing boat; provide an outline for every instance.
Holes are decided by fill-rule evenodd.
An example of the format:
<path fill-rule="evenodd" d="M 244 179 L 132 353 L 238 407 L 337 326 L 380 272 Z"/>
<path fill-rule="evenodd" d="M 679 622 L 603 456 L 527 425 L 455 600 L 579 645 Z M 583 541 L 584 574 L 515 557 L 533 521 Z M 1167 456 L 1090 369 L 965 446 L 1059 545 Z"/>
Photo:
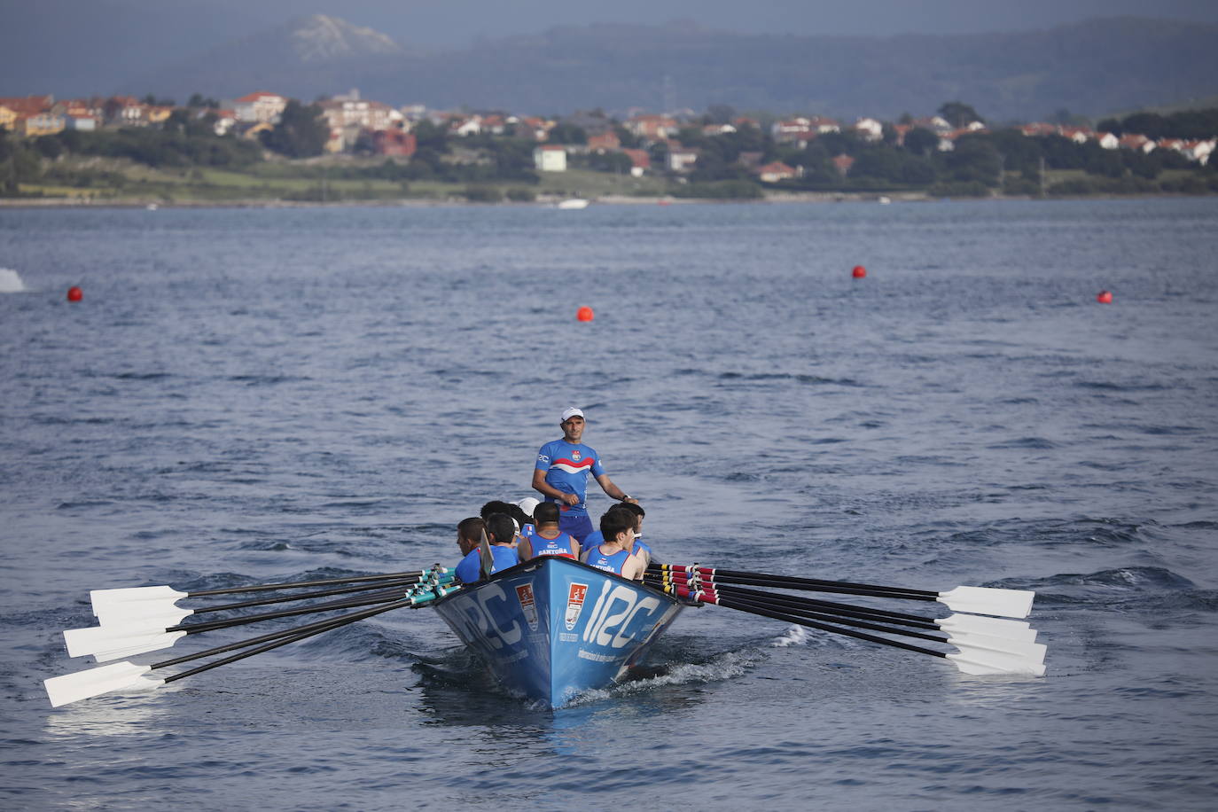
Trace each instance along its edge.
<path fill-rule="evenodd" d="M 5 808 L 1214 807 L 1216 198 L 4 209 L 0 269 Z M 452 564 L 569 404 L 658 558 L 1034 589 L 1047 674 L 708 606 L 538 711 L 403 610 L 50 707 L 90 589 Z"/>

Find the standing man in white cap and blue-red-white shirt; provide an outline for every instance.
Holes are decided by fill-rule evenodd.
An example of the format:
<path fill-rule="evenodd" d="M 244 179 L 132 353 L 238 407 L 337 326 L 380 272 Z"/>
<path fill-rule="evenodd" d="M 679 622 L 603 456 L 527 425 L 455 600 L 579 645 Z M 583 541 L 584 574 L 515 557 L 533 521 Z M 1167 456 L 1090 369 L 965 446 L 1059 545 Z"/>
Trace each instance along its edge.
<path fill-rule="evenodd" d="M 537 465 L 533 466 L 532 486 L 546 497 L 546 502 L 558 503 L 559 530 L 582 543 L 592 532 L 592 520 L 588 519 L 585 504 L 588 472 L 596 477 L 597 485 L 610 499 L 635 503 L 637 500 L 631 499 L 613 483 L 600 466 L 600 455 L 594 448 L 581 442 L 583 427 L 587 425 L 582 409 L 568 407 L 563 410 L 563 420 L 558 425 L 563 429 L 563 438 L 541 447 L 537 453 Z"/>

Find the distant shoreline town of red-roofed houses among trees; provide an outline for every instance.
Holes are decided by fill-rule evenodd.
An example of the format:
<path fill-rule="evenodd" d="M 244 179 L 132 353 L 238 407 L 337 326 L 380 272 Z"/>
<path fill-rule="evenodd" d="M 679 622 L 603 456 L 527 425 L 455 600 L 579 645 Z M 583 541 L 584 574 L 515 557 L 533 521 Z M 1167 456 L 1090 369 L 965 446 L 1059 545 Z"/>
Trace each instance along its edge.
<path fill-rule="evenodd" d="M 269 91 L 223 102 L 195 94 L 185 105 L 151 95 L 33 95 L 0 97 L 0 158 L 9 158 L 0 164 L 0 195 L 130 191 L 129 178 L 113 164 L 99 169 L 96 158 L 194 169 L 181 189 L 201 192 L 222 185 L 205 168 L 248 170 L 268 159 L 315 163 L 324 156 L 352 163 L 323 177 L 320 200 L 404 196 L 420 181 L 465 184 L 470 200 L 496 200 L 499 192 L 488 189 L 507 184 L 512 200 L 532 200 L 531 186 L 568 172 L 650 178 L 659 185 L 635 186 L 646 189 L 636 194 L 688 197 L 1218 192 L 1209 163 L 1218 111 L 1138 113 L 1094 128 L 1067 111 L 1057 119 L 998 127 L 960 101 L 931 116 L 843 122 L 739 114 L 722 105 L 702 114 L 631 110 L 620 117 L 599 110 L 564 117 L 453 112 L 393 107 L 357 90 L 308 105 Z M 345 189 L 346 180 L 361 185 Z M 317 194 L 309 186 L 297 198 Z"/>

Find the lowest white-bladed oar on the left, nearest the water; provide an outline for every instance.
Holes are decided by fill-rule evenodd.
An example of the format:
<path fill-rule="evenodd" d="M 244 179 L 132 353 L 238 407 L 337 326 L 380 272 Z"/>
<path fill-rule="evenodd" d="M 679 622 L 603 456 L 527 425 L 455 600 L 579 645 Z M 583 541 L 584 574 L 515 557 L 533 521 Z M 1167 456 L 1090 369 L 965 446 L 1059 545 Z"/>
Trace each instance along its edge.
<path fill-rule="evenodd" d="M 141 688 L 158 688 L 161 685 L 183 679 L 184 677 L 190 677 L 192 674 L 202 673 L 203 671 L 209 671 L 230 662 L 236 662 L 238 660 L 244 660 L 246 657 L 252 657 L 256 654 L 262 654 L 263 651 L 270 651 L 272 649 L 278 649 L 281 645 L 287 645 L 289 643 L 296 643 L 297 640 L 303 640 L 330 629 L 339 628 L 341 626 L 347 626 L 354 623 L 356 621 L 364 620 L 367 617 L 373 617 L 382 612 L 392 611 L 395 609 L 403 609 L 407 606 L 417 607 L 426 603 L 442 598 L 446 594 L 460 589 L 459 586 L 449 587 L 434 587 L 429 592 L 419 595 L 412 595 L 409 598 L 402 598 L 380 606 L 374 606 L 373 609 L 365 609 L 363 611 L 352 612 L 350 615 L 342 615 L 341 617 L 333 617 L 324 621 L 318 621 L 315 623 L 308 623 L 306 626 L 298 626 L 296 628 L 284 629 L 280 632 L 272 632 L 269 634 L 262 634 L 259 637 L 241 640 L 239 643 L 230 643 L 228 645 L 219 645 L 213 649 L 207 649 L 206 651 L 199 651 L 196 654 L 189 654 L 181 657 L 174 657 L 173 660 L 164 660 L 162 662 L 155 662 L 147 666 L 135 665 L 134 662 L 116 662 L 108 666 L 101 666 L 99 668 L 90 668 L 89 671 L 78 671 L 76 673 L 63 674 L 60 677 L 51 677 L 45 679 L 43 684 L 46 687 L 46 695 L 51 700 L 51 705 L 58 707 L 60 705 L 67 705 L 68 702 L 76 702 L 82 699 L 89 699 L 90 696 L 97 696 L 100 694 L 107 694 L 117 690 L 133 690 Z M 234 649 L 244 649 L 251 645 L 259 645 L 250 651 L 242 651 L 241 654 L 233 655 L 230 657 L 224 657 L 217 660 L 216 662 L 208 662 L 206 665 L 199 666 L 197 668 L 191 668 L 189 671 L 183 671 L 180 673 L 171 674 L 168 677 L 149 677 L 145 676 L 150 671 L 157 668 L 166 668 L 168 666 L 179 665 L 183 662 L 189 662 L 191 660 L 199 660 L 202 657 L 212 656 L 216 654 L 223 654 L 225 651 L 231 651 Z"/>

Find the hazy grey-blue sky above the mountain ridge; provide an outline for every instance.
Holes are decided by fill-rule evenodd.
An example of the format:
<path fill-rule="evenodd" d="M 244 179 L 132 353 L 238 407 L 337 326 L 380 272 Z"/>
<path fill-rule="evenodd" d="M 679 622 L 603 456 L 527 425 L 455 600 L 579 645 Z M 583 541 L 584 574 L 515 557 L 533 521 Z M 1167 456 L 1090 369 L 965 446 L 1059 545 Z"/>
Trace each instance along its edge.
<path fill-rule="evenodd" d="M 430 51 L 600 22 L 873 37 L 1028 30 L 1119 15 L 1218 23 L 1218 0 L 0 0 L 0 95 L 111 93 L 314 13 Z"/>

